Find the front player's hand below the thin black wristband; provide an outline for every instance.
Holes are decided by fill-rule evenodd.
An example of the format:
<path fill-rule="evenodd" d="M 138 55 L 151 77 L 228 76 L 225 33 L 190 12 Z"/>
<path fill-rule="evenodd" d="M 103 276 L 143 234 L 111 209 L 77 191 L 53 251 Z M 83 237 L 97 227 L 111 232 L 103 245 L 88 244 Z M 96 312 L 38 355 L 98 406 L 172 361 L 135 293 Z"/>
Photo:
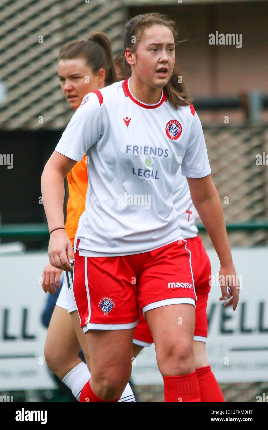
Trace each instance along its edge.
<path fill-rule="evenodd" d="M 50 234 L 48 255 L 49 262 L 53 267 L 68 272 L 74 270 L 70 264 L 73 261 L 73 247 L 65 230 L 55 230 Z"/>

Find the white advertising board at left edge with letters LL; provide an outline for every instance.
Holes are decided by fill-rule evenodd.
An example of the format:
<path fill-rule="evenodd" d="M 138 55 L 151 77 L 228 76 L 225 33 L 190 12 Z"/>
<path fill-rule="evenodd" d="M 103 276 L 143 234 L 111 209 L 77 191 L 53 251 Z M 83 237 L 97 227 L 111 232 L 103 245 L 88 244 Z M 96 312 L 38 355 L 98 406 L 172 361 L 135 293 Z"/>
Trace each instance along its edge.
<path fill-rule="evenodd" d="M 40 322 L 47 294 L 39 284 L 47 253 L 0 257 L 0 391 L 54 388 Z"/>

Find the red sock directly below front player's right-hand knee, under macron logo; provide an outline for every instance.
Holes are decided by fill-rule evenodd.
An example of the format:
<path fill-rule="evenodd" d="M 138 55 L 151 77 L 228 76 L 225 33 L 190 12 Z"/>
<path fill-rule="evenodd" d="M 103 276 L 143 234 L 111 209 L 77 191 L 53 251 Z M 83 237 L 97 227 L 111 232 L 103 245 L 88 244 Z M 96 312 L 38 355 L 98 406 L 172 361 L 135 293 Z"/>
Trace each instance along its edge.
<path fill-rule="evenodd" d="M 200 402 L 196 372 L 163 376 L 165 402 Z"/>

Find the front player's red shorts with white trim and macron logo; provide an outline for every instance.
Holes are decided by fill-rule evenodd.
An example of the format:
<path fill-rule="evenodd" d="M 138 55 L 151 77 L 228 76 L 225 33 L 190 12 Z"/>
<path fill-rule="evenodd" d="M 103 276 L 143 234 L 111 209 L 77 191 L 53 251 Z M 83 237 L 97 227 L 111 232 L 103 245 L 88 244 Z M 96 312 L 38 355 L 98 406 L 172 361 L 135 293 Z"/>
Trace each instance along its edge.
<path fill-rule="evenodd" d="M 74 254 L 74 298 L 80 327 L 132 329 L 139 309 L 169 304 L 195 306 L 197 296 L 187 240 L 153 251 L 117 257 L 82 257 Z"/>

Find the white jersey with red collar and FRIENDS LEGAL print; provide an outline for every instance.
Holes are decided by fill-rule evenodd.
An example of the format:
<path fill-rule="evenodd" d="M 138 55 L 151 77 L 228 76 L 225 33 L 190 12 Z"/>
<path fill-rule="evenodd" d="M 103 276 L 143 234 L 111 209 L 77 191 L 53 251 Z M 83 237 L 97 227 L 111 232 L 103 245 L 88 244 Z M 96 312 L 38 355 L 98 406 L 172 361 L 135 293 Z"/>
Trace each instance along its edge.
<path fill-rule="evenodd" d="M 181 239 L 176 173 L 211 173 L 194 108 L 174 109 L 163 90 L 158 103 L 142 103 L 129 80 L 87 94 L 55 149 L 76 161 L 86 153 L 86 210 L 74 241 L 84 257 L 138 254 Z"/>

